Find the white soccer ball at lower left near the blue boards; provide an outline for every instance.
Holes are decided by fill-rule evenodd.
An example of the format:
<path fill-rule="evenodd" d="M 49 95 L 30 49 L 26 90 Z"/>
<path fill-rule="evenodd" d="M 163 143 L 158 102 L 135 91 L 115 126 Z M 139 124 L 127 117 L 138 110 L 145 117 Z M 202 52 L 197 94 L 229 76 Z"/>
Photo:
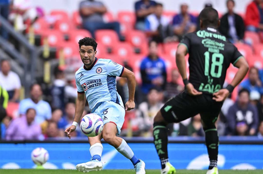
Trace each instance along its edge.
<path fill-rule="evenodd" d="M 43 165 L 49 158 L 48 151 L 43 147 L 34 149 L 31 153 L 31 159 L 36 165 Z"/>

